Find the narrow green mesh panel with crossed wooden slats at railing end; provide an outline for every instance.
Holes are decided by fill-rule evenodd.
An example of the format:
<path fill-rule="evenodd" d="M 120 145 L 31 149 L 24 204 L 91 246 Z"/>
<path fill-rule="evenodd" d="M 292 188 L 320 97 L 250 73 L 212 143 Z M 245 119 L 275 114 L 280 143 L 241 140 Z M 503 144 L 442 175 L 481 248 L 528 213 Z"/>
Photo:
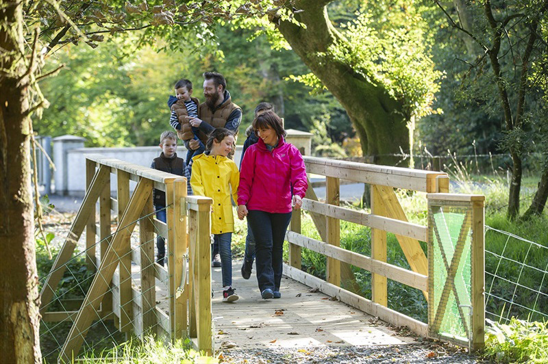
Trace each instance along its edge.
<path fill-rule="evenodd" d="M 429 201 L 428 328 L 431 337 L 471 338 L 470 203 Z"/>

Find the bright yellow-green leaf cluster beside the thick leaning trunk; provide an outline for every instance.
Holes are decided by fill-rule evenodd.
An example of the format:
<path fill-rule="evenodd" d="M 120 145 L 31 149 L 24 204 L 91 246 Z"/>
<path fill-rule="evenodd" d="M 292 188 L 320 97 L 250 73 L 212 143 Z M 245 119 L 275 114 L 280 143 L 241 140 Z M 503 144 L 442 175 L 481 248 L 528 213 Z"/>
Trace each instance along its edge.
<path fill-rule="evenodd" d="M 419 10 L 370 3 L 356 15 L 342 25 L 345 40 L 330 47 L 328 56 L 345 62 L 367 82 L 382 83 L 409 116 L 431 114 L 443 73 L 434 69 Z"/>

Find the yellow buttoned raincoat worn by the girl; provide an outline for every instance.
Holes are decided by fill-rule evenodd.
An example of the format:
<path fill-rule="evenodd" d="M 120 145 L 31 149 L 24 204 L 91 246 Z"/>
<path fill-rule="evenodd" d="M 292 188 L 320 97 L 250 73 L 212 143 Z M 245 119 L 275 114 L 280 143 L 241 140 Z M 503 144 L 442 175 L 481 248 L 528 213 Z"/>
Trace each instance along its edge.
<path fill-rule="evenodd" d="M 195 196 L 213 198 L 211 233 L 234 232 L 231 190 L 234 201 L 238 200 L 240 172 L 232 159 L 222 155 L 200 154 L 192 158 L 190 186 Z"/>

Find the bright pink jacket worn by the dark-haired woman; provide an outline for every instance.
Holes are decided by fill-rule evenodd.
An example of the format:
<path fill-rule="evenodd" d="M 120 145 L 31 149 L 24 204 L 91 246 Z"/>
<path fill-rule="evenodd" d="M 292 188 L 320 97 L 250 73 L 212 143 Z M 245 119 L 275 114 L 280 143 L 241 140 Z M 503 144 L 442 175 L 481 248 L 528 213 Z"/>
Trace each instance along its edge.
<path fill-rule="evenodd" d="M 269 213 L 291 212 L 292 194 L 304 197 L 308 181 L 299 149 L 280 138 L 272 151 L 259 139 L 245 151 L 238 205 Z"/>

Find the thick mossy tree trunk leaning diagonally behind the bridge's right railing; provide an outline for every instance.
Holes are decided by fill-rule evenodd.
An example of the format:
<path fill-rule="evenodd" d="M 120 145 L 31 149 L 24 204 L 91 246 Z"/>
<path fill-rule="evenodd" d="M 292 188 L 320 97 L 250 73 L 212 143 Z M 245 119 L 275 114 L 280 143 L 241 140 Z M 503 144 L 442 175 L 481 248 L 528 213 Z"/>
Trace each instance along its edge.
<path fill-rule="evenodd" d="M 382 85 L 372 83 L 346 64 L 329 57 L 330 46 L 345 42 L 329 21 L 325 7 L 329 2 L 296 1 L 295 7 L 303 12 L 295 17 L 306 25 L 306 29 L 281 21 L 279 31 L 346 109 L 360 136 L 364 155 L 373 155 L 377 164 L 395 165 L 400 158 L 391 154 L 410 151 L 407 126 L 410 118 L 403 103 L 390 96 Z"/>

